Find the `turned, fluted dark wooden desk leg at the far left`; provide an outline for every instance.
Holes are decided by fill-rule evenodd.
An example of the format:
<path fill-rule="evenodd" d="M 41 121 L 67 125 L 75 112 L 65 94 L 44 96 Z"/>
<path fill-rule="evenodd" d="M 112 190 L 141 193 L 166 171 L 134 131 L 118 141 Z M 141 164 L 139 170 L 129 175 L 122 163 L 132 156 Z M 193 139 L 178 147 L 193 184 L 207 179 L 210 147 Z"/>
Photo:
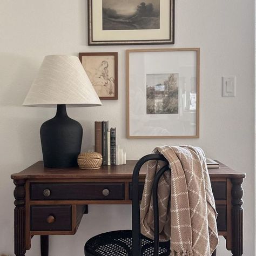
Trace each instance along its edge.
<path fill-rule="evenodd" d="M 14 180 L 14 252 L 24 256 L 25 248 L 25 180 Z"/>

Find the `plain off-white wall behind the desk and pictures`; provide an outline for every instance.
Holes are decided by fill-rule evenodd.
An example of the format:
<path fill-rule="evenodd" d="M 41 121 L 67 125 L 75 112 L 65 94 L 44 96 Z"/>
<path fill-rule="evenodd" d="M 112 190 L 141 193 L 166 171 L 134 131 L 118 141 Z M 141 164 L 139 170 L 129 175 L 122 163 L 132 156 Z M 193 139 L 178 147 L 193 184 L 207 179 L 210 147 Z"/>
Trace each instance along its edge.
<path fill-rule="evenodd" d="M 126 139 L 125 49 L 154 46 L 88 47 L 85 0 L 1 0 L 0 254 L 14 255 L 10 174 L 42 159 L 39 127 L 55 113 L 21 106 L 44 56 L 118 51 L 119 99 L 68 111 L 84 127 L 83 148 L 93 145 L 93 122 L 108 119 L 117 127 L 128 159 L 138 159 L 159 145 L 193 144 L 203 147 L 208 157 L 246 172 L 244 255 L 255 255 L 254 16 L 253 0 L 176 0 L 176 44 L 171 47 L 201 49 L 200 139 Z M 237 97 L 221 97 L 223 75 L 237 77 Z M 129 228 L 130 211 L 130 206 L 90 206 L 76 235 L 50 238 L 50 255 L 82 256 L 84 242 L 92 235 Z M 39 255 L 38 237 L 26 255 Z M 231 255 L 224 239 L 218 255 Z"/>

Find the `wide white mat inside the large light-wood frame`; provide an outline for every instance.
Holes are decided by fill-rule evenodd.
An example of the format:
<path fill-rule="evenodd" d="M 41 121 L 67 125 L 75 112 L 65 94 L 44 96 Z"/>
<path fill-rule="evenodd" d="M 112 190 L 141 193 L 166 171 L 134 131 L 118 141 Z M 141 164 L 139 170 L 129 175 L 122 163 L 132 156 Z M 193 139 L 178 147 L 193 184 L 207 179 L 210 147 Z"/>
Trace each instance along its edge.
<path fill-rule="evenodd" d="M 147 73 L 179 74 L 178 114 L 146 114 Z M 196 51 L 130 52 L 129 74 L 130 136 L 196 136 L 197 110 L 184 104 L 184 92 L 194 93 Z"/>

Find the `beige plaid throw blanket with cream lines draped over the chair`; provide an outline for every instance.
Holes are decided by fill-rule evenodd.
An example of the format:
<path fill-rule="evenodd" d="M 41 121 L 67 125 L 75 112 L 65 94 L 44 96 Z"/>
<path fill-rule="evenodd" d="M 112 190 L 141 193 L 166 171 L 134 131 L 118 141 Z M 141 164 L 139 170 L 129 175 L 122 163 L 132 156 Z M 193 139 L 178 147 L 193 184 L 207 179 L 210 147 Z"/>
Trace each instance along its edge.
<path fill-rule="evenodd" d="M 206 158 L 200 147 L 163 146 L 153 153 L 163 154 L 171 172 L 159 180 L 160 241 L 171 239 L 172 256 L 210 256 L 218 244 L 217 212 Z M 141 204 L 141 230 L 153 239 L 152 185 L 163 161 L 150 161 Z M 171 176 L 170 176 L 171 174 Z"/>

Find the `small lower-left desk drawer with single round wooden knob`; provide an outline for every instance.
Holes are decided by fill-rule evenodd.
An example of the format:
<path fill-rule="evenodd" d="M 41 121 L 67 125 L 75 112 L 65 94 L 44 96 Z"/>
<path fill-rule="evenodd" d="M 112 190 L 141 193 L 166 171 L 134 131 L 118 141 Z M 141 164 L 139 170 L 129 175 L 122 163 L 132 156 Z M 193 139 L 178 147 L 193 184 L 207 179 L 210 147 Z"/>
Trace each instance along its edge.
<path fill-rule="evenodd" d="M 70 231 L 72 223 L 71 205 L 31 206 L 31 231 Z"/>

